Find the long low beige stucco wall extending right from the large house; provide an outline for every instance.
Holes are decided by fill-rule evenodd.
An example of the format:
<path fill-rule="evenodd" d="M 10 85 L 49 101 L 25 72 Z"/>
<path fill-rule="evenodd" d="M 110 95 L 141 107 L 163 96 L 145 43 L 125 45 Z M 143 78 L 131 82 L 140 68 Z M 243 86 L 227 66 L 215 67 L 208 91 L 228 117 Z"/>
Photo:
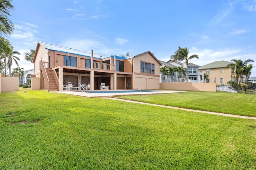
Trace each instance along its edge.
<path fill-rule="evenodd" d="M 216 91 L 216 83 L 160 83 L 161 90 Z"/>

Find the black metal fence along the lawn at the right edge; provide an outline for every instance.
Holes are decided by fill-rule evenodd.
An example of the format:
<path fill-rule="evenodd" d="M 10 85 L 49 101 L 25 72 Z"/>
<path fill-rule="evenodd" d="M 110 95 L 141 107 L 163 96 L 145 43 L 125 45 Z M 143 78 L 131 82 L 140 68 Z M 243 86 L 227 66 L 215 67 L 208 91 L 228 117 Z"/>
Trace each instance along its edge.
<path fill-rule="evenodd" d="M 216 91 L 225 91 L 229 93 L 241 93 L 241 94 L 248 94 L 248 95 L 256 95 L 256 89 L 255 88 L 241 88 L 238 87 L 238 89 L 234 89 L 231 87 L 231 85 L 216 85 Z"/>

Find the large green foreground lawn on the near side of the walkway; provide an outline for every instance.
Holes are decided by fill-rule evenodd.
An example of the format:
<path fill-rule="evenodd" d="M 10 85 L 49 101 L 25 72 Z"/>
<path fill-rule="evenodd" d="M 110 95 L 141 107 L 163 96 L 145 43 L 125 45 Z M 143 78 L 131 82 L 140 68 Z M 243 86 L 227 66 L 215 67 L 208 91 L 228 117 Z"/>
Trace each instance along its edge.
<path fill-rule="evenodd" d="M 0 169 L 256 168 L 255 120 L 47 91 L 0 94 L 0 144 Z"/>

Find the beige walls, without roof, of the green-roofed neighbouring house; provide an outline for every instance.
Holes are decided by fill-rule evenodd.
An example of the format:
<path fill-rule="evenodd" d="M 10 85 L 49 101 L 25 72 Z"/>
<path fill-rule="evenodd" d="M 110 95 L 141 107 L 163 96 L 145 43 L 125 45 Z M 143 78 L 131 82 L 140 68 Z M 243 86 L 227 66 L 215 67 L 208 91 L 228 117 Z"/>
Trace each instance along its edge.
<path fill-rule="evenodd" d="M 220 69 L 224 69 L 223 73 L 220 73 Z M 202 75 L 204 76 L 204 73 L 206 73 L 206 70 L 210 70 L 209 79 L 210 83 L 214 82 L 214 77 L 216 77 L 216 83 L 218 85 L 224 84 L 227 85 L 227 82 L 231 80 L 231 67 L 223 67 L 223 68 L 214 68 L 214 69 L 200 69 L 202 70 Z M 204 77 L 203 77 L 204 78 Z M 220 78 L 223 78 L 223 83 L 220 83 Z"/>

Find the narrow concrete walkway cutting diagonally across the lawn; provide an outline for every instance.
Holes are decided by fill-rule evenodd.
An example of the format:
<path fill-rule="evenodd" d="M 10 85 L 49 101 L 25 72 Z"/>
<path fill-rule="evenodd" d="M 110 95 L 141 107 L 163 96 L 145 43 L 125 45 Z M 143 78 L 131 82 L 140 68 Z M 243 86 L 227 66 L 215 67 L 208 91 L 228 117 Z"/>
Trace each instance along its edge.
<path fill-rule="evenodd" d="M 238 117 L 238 118 L 243 118 L 243 119 L 254 119 L 254 120 L 256 120 L 256 117 L 248 117 L 248 116 L 240 116 L 240 115 L 231 115 L 231 114 L 216 113 L 216 112 L 208 112 L 208 111 L 198 111 L 198 110 L 194 110 L 194 109 L 184 109 L 184 108 L 180 108 L 180 107 L 156 105 L 156 104 L 151 104 L 151 103 L 144 103 L 144 102 L 139 102 L 139 101 L 124 100 L 124 99 L 116 99 L 116 98 L 107 98 L 107 99 L 119 100 L 119 101 L 126 101 L 126 102 L 130 102 L 130 103 L 139 103 L 139 104 L 144 104 L 144 105 L 152 105 L 152 106 L 158 106 L 158 107 L 167 107 L 167 108 L 170 108 L 170 109 L 179 109 L 179 110 L 184 110 L 184 111 L 192 111 L 192 112 L 199 112 L 199 113 L 208 113 L 208 114 L 220 115 L 220 116 L 226 116 L 226 117 Z"/>

